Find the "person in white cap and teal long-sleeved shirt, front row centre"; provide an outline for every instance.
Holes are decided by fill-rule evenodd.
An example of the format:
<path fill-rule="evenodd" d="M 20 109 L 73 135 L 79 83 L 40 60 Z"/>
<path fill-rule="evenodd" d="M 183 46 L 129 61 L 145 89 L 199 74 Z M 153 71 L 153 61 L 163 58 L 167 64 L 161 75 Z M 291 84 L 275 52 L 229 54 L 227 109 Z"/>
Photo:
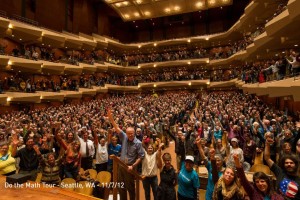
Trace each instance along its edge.
<path fill-rule="evenodd" d="M 178 200 L 198 199 L 200 182 L 199 176 L 193 166 L 194 157 L 191 155 L 186 156 L 178 174 Z"/>

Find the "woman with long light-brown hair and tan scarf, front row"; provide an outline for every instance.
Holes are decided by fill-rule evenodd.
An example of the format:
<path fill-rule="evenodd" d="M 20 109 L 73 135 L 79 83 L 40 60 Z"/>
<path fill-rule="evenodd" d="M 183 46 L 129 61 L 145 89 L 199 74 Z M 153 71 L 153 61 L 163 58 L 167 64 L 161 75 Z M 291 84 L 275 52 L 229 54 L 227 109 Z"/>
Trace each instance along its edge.
<path fill-rule="evenodd" d="M 235 170 L 226 167 L 223 176 L 220 177 L 215 185 L 213 200 L 243 200 L 244 193 L 241 191 L 240 183 L 237 179 Z"/>

